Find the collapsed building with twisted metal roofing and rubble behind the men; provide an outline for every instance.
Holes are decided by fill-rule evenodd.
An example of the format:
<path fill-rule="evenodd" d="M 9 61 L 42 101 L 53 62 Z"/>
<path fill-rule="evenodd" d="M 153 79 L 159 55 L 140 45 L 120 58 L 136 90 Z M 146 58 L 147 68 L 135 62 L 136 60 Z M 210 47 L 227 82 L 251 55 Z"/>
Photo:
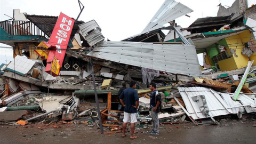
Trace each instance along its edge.
<path fill-rule="evenodd" d="M 239 6 L 246 7 L 240 1 Z M 162 92 L 160 119 L 178 118 L 183 122 L 187 115 L 196 125 L 195 120 L 205 118 L 216 124 L 217 116 L 236 114 L 241 118 L 255 112 L 255 94 L 244 85 L 254 70 L 254 52 L 250 51 L 255 47 L 255 17 L 249 11 L 255 6 L 238 14 L 219 14 L 225 10 L 220 5 L 218 17 L 197 19 L 188 28 L 181 28 L 174 20 L 193 10 L 166 0 L 140 34 L 119 42 L 105 41 L 95 20 L 76 21 L 59 76 L 46 73 L 47 58 L 42 54 L 50 47 L 47 41 L 58 17 L 14 10 L 14 20 L 0 22 L 0 42 L 13 47 L 14 57 L 0 66 L 1 113 L 40 108 L 46 113 L 27 121 L 54 112 L 67 121 L 101 115 L 103 125 L 117 126 L 107 121 L 114 117 L 120 122 L 115 115 L 117 93 L 123 82 L 132 80 L 137 81 L 138 118 L 143 121 L 150 120 L 145 115 L 149 111 L 150 82 Z M 245 19 L 246 23 L 242 22 Z M 166 23 L 170 26 L 165 27 Z M 169 30 L 169 34 L 163 30 Z M 197 53 L 203 52 L 204 75 L 197 58 Z M 213 74 L 214 70 L 224 72 Z M 255 81 L 255 75 L 251 77 L 247 83 Z M 100 114 L 94 110 L 95 93 L 99 94 Z M 17 121 L 20 117 L 3 120 Z"/>

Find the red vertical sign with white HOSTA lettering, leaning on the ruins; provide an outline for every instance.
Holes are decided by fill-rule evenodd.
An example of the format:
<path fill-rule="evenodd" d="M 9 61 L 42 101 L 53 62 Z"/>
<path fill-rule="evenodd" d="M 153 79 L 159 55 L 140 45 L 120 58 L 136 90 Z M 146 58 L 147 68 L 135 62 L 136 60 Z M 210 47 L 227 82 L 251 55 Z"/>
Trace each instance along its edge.
<path fill-rule="evenodd" d="M 60 13 L 59 18 L 54 26 L 54 29 L 52 31 L 50 40 L 48 44 L 51 45 L 50 48 L 55 50 L 50 50 L 50 53 L 48 55 L 47 59 L 47 65 L 45 68 L 46 73 L 49 73 L 53 76 L 58 76 L 60 68 L 63 63 L 63 59 L 65 57 L 65 53 L 67 50 L 69 37 L 71 35 L 71 31 L 73 29 L 75 20 L 69 18 L 67 15 Z M 54 60 L 55 56 L 55 60 Z M 60 67 L 57 69 L 57 71 L 52 71 L 52 65 L 53 61 L 59 63 Z"/>

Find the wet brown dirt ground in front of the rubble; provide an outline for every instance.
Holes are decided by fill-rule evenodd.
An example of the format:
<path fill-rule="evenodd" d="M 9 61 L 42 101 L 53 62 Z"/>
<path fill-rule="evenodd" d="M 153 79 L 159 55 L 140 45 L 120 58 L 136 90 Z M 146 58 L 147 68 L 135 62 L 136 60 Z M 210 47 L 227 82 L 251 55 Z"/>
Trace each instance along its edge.
<path fill-rule="evenodd" d="M 122 123 L 120 123 L 122 124 Z M 0 125 L 0 143 L 255 143 L 256 119 L 228 119 L 220 125 L 198 125 L 191 122 L 160 125 L 159 135 L 147 133 L 151 124 L 135 127 L 138 139 L 127 132 L 100 134 L 97 125 L 70 123 L 29 123 L 25 126 Z M 103 127 L 104 132 L 110 132 Z"/>

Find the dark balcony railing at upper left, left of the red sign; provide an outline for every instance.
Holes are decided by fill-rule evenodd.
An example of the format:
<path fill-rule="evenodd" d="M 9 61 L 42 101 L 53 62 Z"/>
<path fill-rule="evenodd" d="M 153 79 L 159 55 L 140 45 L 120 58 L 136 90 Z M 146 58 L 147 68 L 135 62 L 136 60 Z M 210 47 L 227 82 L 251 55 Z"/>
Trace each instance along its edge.
<path fill-rule="evenodd" d="M 31 21 L 2 21 L 0 27 L 10 35 L 39 35 L 44 37 L 47 35 L 50 37 L 52 31 L 49 31 L 49 29 L 54 25 Z M 44 33 L 46 30 L 49 33 Z"/>

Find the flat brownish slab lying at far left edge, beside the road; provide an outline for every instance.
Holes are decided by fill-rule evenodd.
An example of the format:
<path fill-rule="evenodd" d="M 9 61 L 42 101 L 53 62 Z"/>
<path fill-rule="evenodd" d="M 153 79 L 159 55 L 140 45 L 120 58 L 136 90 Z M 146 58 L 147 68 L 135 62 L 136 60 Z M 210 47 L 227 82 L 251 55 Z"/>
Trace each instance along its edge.
<path fill-rule="evenodd" d="M 21 116 L 26 115 L 27 110 L 3 111 L 0 112 L 1 121 L 17 121 Z"/>

